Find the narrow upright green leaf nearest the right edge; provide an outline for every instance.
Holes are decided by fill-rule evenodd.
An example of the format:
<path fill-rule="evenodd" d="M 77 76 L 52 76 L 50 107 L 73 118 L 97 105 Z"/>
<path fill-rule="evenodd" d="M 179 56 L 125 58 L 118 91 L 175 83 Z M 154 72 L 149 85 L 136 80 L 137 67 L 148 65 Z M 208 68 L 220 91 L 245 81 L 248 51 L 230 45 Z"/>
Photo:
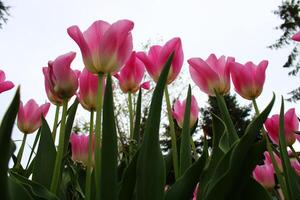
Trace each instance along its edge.
<path fill-rule="evenodd" d="M 289 197 L 287 200 L 300 199 L 300 178 L 291 166 L 287 152 L 287 145 L 284 133 L 284 100 L 281 97 L 280 120 L 279 120 L 279 147 L 282 160 L 283 173 L 286 180 L 286 187 Z"/>

